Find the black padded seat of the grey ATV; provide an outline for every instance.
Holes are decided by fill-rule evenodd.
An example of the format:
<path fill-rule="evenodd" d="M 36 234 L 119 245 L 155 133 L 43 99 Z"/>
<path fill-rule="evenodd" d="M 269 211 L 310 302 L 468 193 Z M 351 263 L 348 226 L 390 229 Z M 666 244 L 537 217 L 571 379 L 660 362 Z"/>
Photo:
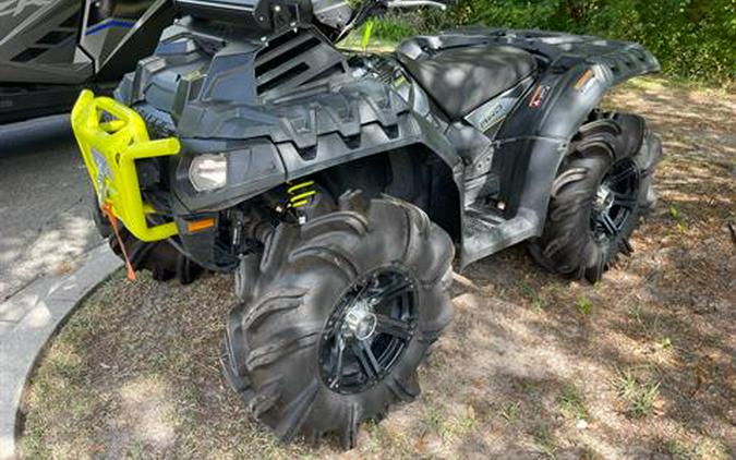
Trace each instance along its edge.
<path fill-rule="evenodd" d="M 447 49 L 425 59 L 398 57 L 451 120 L 467 116 L 536 70 L 529 52 L 509 46 Z"/>

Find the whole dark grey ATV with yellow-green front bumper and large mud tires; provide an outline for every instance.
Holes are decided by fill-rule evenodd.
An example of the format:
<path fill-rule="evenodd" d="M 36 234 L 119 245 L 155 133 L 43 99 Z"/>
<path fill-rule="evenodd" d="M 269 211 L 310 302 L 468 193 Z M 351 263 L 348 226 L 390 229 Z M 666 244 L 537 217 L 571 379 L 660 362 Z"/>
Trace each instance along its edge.
<path fill-rule="evenodd" d="M 527 242 L 599 281 L 654 204 L 661 142 L 605 93 L 660 70 L 641 46 L 466 28 L 391 53 L 336 43 L 424 0 L 179 0 L 114 99 L 73 128 L 99 229 L 129 275 L 231 273 L 224 374 L 285 441 L 353 447 L 420 391 L 456 266 Z"/>

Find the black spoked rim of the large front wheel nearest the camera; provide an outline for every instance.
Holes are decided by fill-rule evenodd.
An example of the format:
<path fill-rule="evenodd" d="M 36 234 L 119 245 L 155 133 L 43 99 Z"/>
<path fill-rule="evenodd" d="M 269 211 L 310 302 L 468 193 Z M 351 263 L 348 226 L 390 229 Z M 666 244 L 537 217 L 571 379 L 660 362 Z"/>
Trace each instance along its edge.
<path fill-rule="evenodd" d="M 333 391 L 355 394 L 388 375 L 417 329 L 414 280 L 398 268 L 374 270 L 340 298 L 322 335 L 319 370 Z"/>

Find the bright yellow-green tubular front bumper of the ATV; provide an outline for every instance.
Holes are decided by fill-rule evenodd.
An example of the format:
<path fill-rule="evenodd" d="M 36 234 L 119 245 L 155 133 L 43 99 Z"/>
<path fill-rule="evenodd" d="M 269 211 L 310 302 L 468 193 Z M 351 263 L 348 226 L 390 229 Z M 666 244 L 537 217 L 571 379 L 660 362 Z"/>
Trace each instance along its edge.
<path fill-rule="evenodd" d="M 106 116 L 110 121 L 102 121 Z M 143 241 L 165 240 L 178 233 L 174 222 L 149 225 L 156 211 L 141 194 L 135 160 L 177 155 L 173 137 L 152 141 L 134 110 L 85 89 L 72 109 L 72 129 L 92 179 L 98 204 L 109 204 L 125 228 Z"/>

